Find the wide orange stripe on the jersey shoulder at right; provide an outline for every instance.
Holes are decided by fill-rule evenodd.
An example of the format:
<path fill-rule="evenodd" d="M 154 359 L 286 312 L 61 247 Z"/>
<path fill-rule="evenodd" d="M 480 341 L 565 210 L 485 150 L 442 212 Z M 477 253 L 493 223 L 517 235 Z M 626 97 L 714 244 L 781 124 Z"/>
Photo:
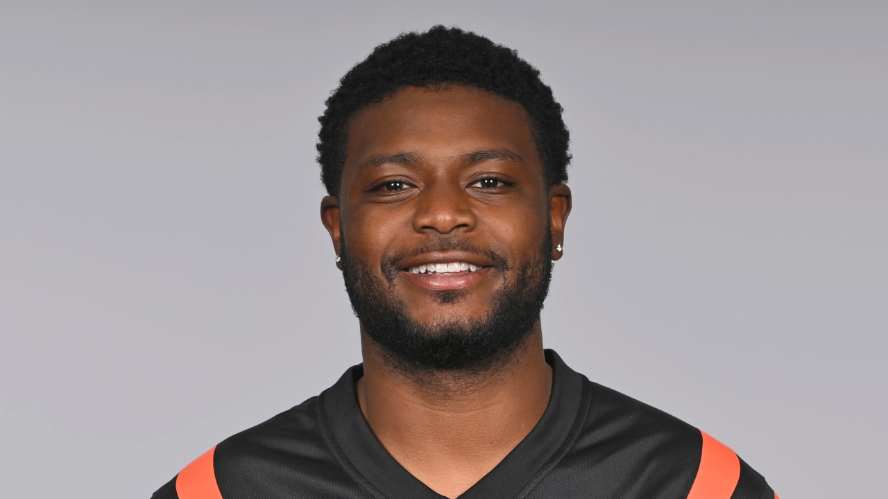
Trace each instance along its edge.
<path fill-rule="evenodd" d="M 687 499 L 730 499 L 740 479 L 740 458 L 704 432 L 700 469 Z"/>

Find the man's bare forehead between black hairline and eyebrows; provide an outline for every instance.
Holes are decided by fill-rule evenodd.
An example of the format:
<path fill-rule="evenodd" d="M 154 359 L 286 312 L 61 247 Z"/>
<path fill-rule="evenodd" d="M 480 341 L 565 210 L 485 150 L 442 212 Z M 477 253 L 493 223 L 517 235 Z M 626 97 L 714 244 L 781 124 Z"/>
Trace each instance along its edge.
<path fill-rule="evenodd" d="M 482 149 L 509 149 L 542 172 L 517 102 L 460 85 L 405 87 L 353 117 L 343 173 L 375 154 L 446 158 Z"/>

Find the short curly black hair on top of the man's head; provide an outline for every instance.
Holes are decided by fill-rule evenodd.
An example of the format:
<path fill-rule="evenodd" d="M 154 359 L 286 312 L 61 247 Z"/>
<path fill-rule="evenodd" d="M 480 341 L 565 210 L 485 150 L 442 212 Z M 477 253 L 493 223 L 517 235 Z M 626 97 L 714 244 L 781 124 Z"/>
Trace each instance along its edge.
<path fill-rule="evenodd" d="M 518 102 L 527 111 L 546 185 L 567 182 L 570 140 L 562 107 L 535 67 L 518 52 L 460 28 L 435 26 L 424 33 L 403 33 L 377 46 L 367 59 L 339 80 L 318 118 L 318 162 L 321 181 L 338 195 L 355 114 L 407 86 L 436 87 L 456 83 L 489 91 Z"/>

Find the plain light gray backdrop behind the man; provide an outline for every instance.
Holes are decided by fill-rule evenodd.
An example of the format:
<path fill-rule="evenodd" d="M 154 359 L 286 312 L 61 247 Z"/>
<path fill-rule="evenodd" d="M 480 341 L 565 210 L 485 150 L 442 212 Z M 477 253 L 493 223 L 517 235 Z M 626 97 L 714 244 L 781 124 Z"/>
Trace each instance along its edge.
<path fill-rule="evenodd" d="M 546 346 L 784 499 L 883 493 L 888 9 L 0 3 L 5 497 L 147 497 L 360 361 L 316 116 L 400 31 L 543 72 L 574 211 Z"/>

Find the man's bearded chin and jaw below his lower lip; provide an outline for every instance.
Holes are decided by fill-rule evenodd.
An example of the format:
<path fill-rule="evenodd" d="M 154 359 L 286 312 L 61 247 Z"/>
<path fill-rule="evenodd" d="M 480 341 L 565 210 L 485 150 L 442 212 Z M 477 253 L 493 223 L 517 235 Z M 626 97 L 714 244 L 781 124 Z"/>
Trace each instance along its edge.
<path fill-rule="evenodd" d="M 362 331 L 392 368 L 480 372 L 511 360 L 539 321 L 551 280 L 548 245 L 515 266 L 500 289 L 403 295 L 343 248 L 345 289 Z M 417 299 L 418 298 L 418 299 Z"/>

